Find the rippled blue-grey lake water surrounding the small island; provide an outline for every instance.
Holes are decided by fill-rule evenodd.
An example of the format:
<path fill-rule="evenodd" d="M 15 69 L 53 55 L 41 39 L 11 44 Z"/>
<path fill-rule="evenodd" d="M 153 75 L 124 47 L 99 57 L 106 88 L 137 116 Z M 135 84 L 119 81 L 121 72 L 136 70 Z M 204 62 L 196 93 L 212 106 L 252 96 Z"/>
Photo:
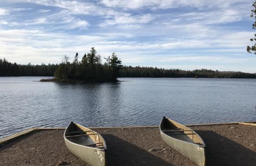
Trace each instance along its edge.
<path fill-rule="evenodd" d="M 119 78 L 118 83 L 0 77 L 0 138 L 36 126 L 256 121 L 256 79 Z"/>

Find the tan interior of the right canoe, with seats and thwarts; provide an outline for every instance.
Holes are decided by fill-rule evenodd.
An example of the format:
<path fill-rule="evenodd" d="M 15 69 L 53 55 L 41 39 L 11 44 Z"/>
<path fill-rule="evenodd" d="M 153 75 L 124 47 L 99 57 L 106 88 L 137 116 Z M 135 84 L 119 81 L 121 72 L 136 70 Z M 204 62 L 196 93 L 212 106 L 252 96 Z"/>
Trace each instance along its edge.
<path fill-rule="evenodd" d="M 205 146 L 203 139 L 195 131 L 169 118 L 162 119 L 160 129 L 166 135 L 178 140 Z"/>

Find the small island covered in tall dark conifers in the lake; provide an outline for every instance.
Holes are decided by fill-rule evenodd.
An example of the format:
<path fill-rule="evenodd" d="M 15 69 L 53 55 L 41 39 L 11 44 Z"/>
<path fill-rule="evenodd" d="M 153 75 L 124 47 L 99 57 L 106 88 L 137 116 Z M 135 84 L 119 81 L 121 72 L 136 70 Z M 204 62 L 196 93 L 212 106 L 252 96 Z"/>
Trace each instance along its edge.
<path fill-rule="evenodd" d="M 72 63 L 69 57 L 64 56 L 64 60 L 59 64 L 54 72 L 53 79 L 42 79 L 40 81 L 54 82 L 116 82 L 122 61 L 117 58 L 116 53 L 108 56 L 106 62 L 101 64 L 101 55 L 97 55 L 94 47 L 89 53 L 83 55 L 82 60 L 78 60 L 78 53 Z"/>

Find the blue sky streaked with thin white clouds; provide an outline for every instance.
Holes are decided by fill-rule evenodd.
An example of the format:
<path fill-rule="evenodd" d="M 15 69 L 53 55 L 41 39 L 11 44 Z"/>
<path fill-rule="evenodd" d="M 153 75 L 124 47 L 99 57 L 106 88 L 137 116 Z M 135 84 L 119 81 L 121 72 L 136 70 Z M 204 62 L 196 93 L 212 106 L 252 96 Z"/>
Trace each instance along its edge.
<path fill-rule="evenodd" d="M 0 58 L 60 63 L 95 47 L 123 65 L 256 73 L 256 55 L 246 51 L 253 2 L 0 0 Z"/>

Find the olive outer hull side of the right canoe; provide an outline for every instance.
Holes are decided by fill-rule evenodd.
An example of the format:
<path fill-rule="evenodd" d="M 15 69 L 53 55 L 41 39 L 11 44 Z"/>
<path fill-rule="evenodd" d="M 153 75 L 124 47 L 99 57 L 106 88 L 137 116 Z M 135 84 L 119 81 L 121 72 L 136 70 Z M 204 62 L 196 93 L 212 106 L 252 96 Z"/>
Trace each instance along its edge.
<path fill-rule="evenodd" d="M 160 131 L 163 141 L 199 166 L 205 166 L 205 148 L 171 138 Z"/>

